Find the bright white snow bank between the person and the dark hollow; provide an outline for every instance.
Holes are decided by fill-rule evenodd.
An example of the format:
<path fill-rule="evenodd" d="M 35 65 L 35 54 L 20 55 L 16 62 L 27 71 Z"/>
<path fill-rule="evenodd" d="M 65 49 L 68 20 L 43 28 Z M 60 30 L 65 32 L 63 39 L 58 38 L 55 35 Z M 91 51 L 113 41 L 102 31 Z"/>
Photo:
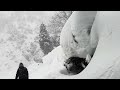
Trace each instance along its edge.
<path fill-rule="evenodd" d="M 58 76 L 60 70 L 64 68 L 63 62 L 65 60 L 65 55 L 61 46 L 52 50 L 42 59 L 43 64 L 39 65 L 34 72 L 30 73 L 30 79 L 47 79 L 53 77 L 53 75 Z"/>

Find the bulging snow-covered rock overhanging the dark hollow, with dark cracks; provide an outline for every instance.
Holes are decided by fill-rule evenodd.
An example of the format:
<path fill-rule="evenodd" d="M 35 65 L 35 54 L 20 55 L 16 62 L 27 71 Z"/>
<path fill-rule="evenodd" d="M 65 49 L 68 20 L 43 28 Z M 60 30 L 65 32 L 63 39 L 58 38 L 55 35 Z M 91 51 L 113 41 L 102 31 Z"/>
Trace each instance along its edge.
<path fill-rule="evenodd" d="M 68 19 L 60 36 L 60 45 L 67 58 L 71 56 L 86 58 L 88 53 L 92 53 L 89 32 L 95 15 L 96 11 L 74 11 Z"/>

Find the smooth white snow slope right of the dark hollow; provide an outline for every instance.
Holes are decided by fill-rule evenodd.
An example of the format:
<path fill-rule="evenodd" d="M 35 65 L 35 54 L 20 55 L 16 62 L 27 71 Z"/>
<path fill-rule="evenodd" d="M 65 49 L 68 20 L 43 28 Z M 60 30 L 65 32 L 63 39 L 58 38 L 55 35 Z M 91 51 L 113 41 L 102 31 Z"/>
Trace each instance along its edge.
<path fill-rule="evenodd" d="M 92 28 L 99 39 L 95 55 L 88 67 L 75 78 L 120 78 L 119 18 L 120 12 L 97 13 Z"/>

